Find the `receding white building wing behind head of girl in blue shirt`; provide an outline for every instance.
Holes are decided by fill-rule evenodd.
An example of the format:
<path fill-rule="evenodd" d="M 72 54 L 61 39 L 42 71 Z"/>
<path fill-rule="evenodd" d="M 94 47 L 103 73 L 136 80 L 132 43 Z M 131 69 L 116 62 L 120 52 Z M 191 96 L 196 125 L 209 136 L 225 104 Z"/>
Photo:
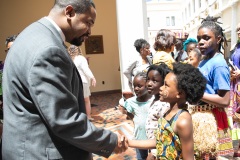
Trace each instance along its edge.
<path fill-rule="evenodd" d="M 202 18 L 208 15 L 221 17 L 219 22 L 222 23 L 220 25 L 228 41 L 225 56 L 228 56 L 231 46 L 237 42 L 236 27 L 240 22 L 240 0 L 186 0 L 183 3 L 183 29 L 189 33 L 189 37 L 196 38 Z"/>

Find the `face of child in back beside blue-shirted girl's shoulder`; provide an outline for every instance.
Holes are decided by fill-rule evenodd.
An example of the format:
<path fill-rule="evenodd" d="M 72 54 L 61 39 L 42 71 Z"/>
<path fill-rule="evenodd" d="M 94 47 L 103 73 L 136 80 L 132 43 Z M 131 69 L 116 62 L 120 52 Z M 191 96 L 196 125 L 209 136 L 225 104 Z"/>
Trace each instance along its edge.
<path fill-rule="evenodd" d="M 198 48 L 194 48 L 188 55 L 187 63 L 197 68 L 201 60 L 202 54 L 200 50 Z"/>

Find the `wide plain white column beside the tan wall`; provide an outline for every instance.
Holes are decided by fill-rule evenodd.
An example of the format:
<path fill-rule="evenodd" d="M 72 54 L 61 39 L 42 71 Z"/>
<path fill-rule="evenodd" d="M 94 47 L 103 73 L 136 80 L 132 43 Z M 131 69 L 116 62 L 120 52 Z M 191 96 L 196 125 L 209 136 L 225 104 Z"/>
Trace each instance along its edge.
<path fill-rule="evenodd" d="M 116 0 L 116 4 L 122 90 L 129 90 L 127 78 L 122 73 L 129 61 L 139 56 L 133 46 L 135 40 L 148 41 L 147 8 L 145 0 Z"/>

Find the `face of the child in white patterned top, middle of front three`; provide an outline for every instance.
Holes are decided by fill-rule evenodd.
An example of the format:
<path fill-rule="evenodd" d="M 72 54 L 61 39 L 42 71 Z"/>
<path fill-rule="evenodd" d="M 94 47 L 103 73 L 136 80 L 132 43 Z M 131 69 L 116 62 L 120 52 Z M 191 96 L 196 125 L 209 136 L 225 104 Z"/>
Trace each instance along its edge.
<path fill-rule="evenodd" d="M 156 70 L 151 70 L 147 75 L 147 90 L 151 95 L 159 94 L 159 89 L 163 85 L 162 76 Z"/>

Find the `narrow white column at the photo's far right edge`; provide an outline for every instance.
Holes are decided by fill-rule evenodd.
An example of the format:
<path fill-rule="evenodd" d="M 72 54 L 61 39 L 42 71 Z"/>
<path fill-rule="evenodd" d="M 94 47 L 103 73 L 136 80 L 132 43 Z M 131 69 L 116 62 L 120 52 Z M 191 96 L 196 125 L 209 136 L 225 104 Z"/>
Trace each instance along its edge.
<path fill-rule="evenodd" d="M 237 43 L 237 34 L 236 34 L 236 27 L 237 27 L 237 3 L 234 2 L 232 4 L 232 20 L 231 20 L 231 45 L 235 45 Z"/>

